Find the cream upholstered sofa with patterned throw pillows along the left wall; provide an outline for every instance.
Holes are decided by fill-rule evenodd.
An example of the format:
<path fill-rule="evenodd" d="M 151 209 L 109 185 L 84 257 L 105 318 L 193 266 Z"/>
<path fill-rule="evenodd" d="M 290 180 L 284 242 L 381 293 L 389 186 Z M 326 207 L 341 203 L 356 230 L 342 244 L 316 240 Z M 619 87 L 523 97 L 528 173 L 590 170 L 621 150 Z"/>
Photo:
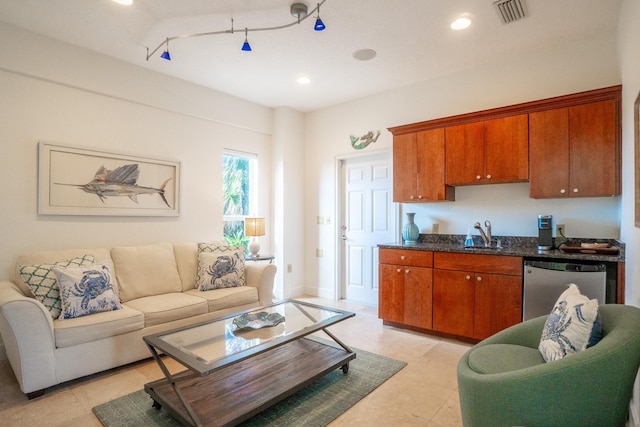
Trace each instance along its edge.
<path fill-rule="evenodd" d="M 54 320 L 18 268 L 86 254 L 110 264 L 122 308 Z M 247 262 L 246 286 L 208 291 L 196 287 L 197 266 L 197 243 L 18 256 L 13 280 L 0 281 L 0 336 L 22 392 L 37 397 L 47 387 L 148 358 L 145 335 L 272 302 L 275 265 Z"/>

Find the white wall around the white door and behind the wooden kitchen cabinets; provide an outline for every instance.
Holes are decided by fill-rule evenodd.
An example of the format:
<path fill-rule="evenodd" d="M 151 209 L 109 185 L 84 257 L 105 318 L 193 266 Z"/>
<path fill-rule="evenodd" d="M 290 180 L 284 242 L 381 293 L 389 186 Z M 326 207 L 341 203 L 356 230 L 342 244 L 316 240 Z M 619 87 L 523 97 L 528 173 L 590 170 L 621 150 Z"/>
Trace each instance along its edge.
<path fill-rule="evenodd" d="M 305 291 L 336 297 L 335 231 L 340 224 L 334 221 L 333 231 L 327 232 L 315 219 L 335 215 L 336 156 L 354 153 L 350 134 L 381 130 L 377 143 L 363 154 L 388 150 L 392 145 L 388 127 L 620 84 L 617 64 L 616 34 L 600 34 L 309 113 Z M 423 232 L 438 222 L 441 233 L 463 234 L 475 221 L 490 219 L 496 235 L 535 236 L 537 215 L 552 214 L 566 224 L 570 237 L 620 237 L 619 197 L 567 202 L 533 200 L 528 193 L 527 184 L 458 188 L 456 202 L 404 205 L 403 210 L 417 212 Z M 323 249 L 324 257 L 315 257 L 316 248 Z"/>

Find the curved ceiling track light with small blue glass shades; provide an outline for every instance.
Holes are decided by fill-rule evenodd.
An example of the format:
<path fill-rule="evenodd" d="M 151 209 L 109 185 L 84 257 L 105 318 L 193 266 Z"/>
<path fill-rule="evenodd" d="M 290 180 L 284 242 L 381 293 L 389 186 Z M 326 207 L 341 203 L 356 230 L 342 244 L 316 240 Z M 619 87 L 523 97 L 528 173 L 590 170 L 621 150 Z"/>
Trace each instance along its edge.
<path fill-rule="evenodd" d="M 322 19 L 320 19 L 320 6 L 323 5 L 326 1 L 327 0 L 322 0 L 320 3 L 317 3 L 317 6 L 311 12 L 308 11 L 307 5 L 305 5 L 304 3 L 293 3 L 291 5 L 290 12 L 291 12 L 291 15 L 293 15 L 296 18 L 296 20 L 288 24 L 276 25 L 273 27 L 262 27 L 262 28 L 245 27 L 244 43 L 242 44 L 242 50 L 245 52 L 251 52 L 251 45 L 249 44 L 249 39 L 248 39 L 248 34 L 250 32 L 283 30 L 285 28 L 289 28 L 296 24 L 301 23 L 302 21 L 304 21 L 305 19 L 307 19 L 309 16 L 313 15 L 316 12 L 317 12 L 316 21 L 313 26 L 313 29 L 315 31 L 323 31 L 326 28 L 326 26 L 324 25 L 324 22 L 322 22 Z M 192 37 L 217 36 L 220 34 L 233 34 L 234 32 L 235 31 L 233 29 L 233 19 L 231 19 L 231 28 L 228 30 L 210 31 L 206 33 L 197 33 L 197 34 L 183 34 L 178 36 L 167 37 L 165 41 L 160 43 L 158 47 L 156 47 L 152 51 L 150 51 L 149 48 L 147 48 L 147 61 L 149 60 L 149 58 L 155 55 L 155 53 L 158 52 L 160 48 L 162 48 L 165 45 L 166 45 L 165 50 L 162 52 L 160 57 L 162 59 L 166 59 L 167 61 L 171 61 L 171 55 L 169 54 L 169 41 L 177 40 L 177 39 L 188 39 Z"/>

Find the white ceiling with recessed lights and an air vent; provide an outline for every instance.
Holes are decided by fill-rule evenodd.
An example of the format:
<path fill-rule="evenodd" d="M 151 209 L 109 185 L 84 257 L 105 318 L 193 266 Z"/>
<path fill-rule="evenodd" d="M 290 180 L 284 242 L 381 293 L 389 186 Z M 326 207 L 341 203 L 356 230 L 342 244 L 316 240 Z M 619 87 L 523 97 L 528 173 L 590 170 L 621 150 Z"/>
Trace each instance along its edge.
<path fill-rule="evenodd" d="M 296 1 L 309 10 L 316 5 Z M 313 31 L 309 18 L 249 33 L 252 52 L 240 50 L 244 28 L 293 21 L 294 0 L 134 0 L 128 7 L 111 0 L 0 0 L 0 21 L 261 105 L 307 112 L 612 31 L 622 3 L 524 1 L 528 17 L 503 24 L 494 0 L 326 0 L 325 31 Z M 463 14 L 473 19 L 471 27 L 451 30 L 449 23 Z M 160 59 L 162 49 L 146 60 L 146 48 L 167 37 L 227 30 L 231 18 L 232 35 L 175 40 L 170 62 Z M 377 56 L 355 60 L 363 48 Z M 312 83 L 298 85 L 301 74 Z"/>

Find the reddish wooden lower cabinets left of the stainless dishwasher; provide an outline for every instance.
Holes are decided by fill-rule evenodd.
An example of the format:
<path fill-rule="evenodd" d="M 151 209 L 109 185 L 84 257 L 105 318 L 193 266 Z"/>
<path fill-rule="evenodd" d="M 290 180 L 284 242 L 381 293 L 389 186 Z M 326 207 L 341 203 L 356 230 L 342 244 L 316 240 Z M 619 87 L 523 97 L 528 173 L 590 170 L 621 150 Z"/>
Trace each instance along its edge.
<path fill-rule="evenodd" d="M 482 340 L 522 320 L 521 257 L 380 249 L 378 316 Z"/>

